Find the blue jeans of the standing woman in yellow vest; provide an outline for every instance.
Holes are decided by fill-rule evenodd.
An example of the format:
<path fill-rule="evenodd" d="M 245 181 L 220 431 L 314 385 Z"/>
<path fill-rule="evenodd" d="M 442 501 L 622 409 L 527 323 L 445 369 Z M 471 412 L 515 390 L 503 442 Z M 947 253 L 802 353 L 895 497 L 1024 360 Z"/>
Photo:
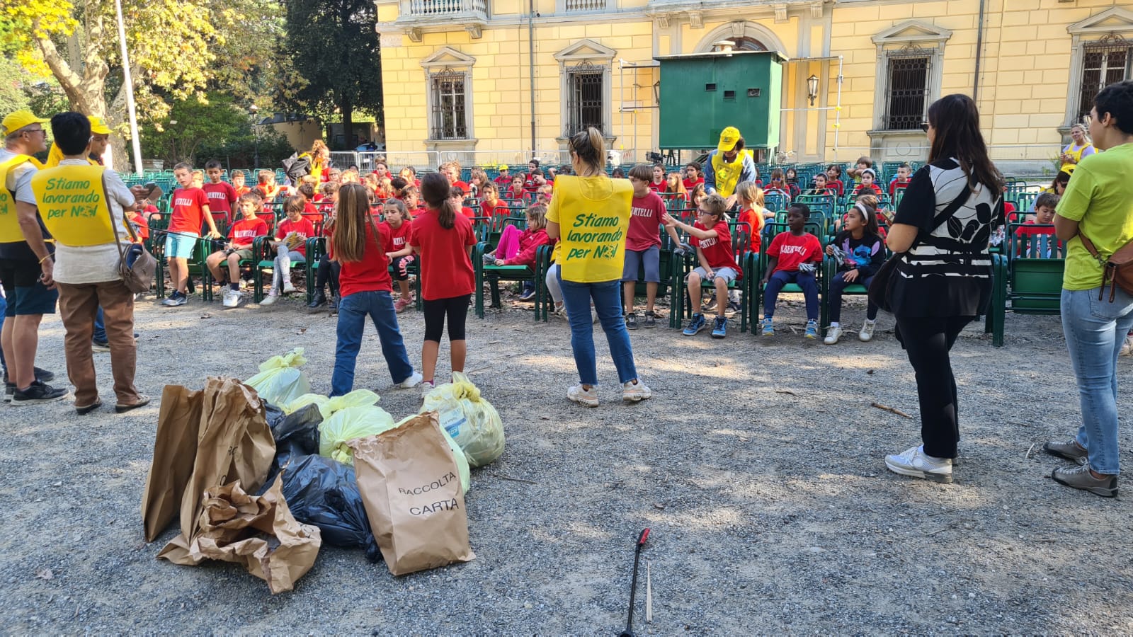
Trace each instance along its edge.
<path fill-rule="evenodd" d="M 602 321 L 602 330 L 606 332 L 610 343 L 610 357 L 617 368 L 617 380 L 625 384 L 636 380 L 637 367 L 633 365 L 633 349 L 630 347 L 630 333 L 622 317 L 622 282 L 605 281 L 602 283 L 578 283 L 564 281 L 559 271 L 559 286 L 563 292 L 563 305 L 566 307 L 566 318 L 570 321 L 570 347 L 574 350 L 574 366 L 583 385 L 598 384 L 598 367 L 594 356 L 594 321 L 590 318 L 590 299 Z"/>

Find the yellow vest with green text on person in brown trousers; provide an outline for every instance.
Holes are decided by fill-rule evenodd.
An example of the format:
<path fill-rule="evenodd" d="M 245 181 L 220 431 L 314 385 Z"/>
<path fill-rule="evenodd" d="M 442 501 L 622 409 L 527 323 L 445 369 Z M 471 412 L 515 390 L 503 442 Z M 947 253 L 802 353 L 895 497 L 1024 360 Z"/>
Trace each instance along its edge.
<path fill-rule="evenodd" d="M 110 207 L 102 187 L 101 165 L 58 165 L 32 178 L 40 219 L 65 246 L 112 243 Z"/>

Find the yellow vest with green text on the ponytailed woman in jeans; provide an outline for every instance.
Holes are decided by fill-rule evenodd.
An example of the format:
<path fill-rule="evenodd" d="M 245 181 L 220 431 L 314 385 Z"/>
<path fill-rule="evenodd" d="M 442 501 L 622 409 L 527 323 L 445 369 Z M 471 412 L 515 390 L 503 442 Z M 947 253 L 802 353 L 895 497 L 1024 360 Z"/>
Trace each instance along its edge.
<path fill-rule="evenodd" d="M 552 207 L 559 219 L 563 280 L 598 283 L 622 278 L 632 202 L 633 186 L 625 179 L 555 178 Z"/>

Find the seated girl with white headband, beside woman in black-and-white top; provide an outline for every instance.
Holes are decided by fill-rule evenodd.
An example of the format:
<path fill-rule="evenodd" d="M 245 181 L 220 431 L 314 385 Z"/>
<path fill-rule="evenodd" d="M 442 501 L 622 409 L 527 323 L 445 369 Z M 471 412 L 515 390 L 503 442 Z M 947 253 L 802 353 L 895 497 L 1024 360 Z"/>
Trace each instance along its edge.
<path fill-rule="evenodd" d="M 861 202 L 854 204 L 846 214 L 843 230 L 826 246 L 826 254 L 837 261 L 838 269 L 830 279 L 829 298 L 830 326 L 826 330 L 826 345 L 838 342 L 842 337 L 842 291 L 854 283 L 869 288 L 874 274 L 885 262 L 885 241 L 878 235 L 877 213 Z M 877 324 L 877 306 L 870 301 L 866 308 L 866 324 L 858 332 L 858 340 L 868 342 L 874 338 Z"/>

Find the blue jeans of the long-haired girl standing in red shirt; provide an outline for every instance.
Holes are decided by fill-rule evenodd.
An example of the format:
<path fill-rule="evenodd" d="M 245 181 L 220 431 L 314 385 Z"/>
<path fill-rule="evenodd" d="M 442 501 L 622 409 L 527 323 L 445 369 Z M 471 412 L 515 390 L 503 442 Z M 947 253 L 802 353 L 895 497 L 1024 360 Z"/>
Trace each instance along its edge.
<path fill-rule="evenodd" d="M 414 375 L 409 364 L 406 343 L 398 329 L 398 314 L 393 312 L 393 299 L 385 290 L 355 292 L 339 301 L 338 346 L 334 349 L 334 374 L 331 376 L 331 396 L 350 393 L 353 389 L 353 370 L 361 348 L 361 337 L 366 330 L 366 316 L 377 328 L 377 340 L 382 342 L 382 356 L 390 366 L 394 383 Z"/>

